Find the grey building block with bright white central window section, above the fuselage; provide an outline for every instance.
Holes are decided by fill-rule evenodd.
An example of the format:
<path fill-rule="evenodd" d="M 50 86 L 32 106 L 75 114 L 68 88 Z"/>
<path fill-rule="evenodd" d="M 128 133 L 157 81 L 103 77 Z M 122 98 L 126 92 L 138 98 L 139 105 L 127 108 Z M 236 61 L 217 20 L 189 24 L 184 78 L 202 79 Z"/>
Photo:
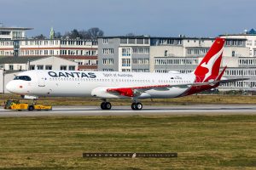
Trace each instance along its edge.
<path fill-rule="evenodd" d="M 149 37 L 99 37 L 99 71 L 149 72 Z"/>

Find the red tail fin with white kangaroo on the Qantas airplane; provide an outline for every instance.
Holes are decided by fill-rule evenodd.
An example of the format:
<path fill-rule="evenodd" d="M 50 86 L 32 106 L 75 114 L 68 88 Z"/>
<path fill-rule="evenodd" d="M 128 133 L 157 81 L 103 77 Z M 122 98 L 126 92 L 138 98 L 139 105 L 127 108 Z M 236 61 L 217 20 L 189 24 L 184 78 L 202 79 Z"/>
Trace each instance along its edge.
<path fill-rule="evenodd" d="M 200 65 L 195 69 L 195 82 L 208 82 L 215 80 L 218 77 L 219 67 L 221 64 L 224 38 L 216 38 L 212 47 L 209 49 L 206 56 L 201 60 Z"/>

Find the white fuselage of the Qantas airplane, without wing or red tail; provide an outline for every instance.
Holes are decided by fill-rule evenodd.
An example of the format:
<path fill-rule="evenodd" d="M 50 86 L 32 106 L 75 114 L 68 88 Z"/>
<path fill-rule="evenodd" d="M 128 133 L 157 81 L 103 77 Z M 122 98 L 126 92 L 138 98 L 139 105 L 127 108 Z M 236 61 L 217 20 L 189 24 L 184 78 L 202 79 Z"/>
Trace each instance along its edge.
<path fill-rule="evenodd" d="M 25 71 L 31 81 L 12 80 L 7 89 L 15 94 L 30 96 L 83 96 L 125 98 L 108 94 L 107 88 L 134 88 L 158 85 L 186 84 L 195 81 L 195 75 L 174 73 L 102 72 L 102 71 Z M 102 94 L 99 94 L 102 90 Z M 149 89 L 139 98 L 175 98 L 187 88 Z M 104 94 L 105 93 L 105 94 Z"/>

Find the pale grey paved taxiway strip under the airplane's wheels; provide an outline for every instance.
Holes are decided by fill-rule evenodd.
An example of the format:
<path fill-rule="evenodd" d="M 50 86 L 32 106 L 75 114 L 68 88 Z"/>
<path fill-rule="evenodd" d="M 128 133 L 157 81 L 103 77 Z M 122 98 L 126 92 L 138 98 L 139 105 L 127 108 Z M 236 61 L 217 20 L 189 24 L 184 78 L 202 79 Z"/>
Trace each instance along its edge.
<path fill-rule="evenodd" d="M 113 106 L 102 111 L 99 106 L 54 106 L 53 111 L 8 111 L 0 116 L 133 116 L 133 115 L 231 115 L 256 114 L 256 105 L 145 105 L 142 111 L 131 106 Z"/>

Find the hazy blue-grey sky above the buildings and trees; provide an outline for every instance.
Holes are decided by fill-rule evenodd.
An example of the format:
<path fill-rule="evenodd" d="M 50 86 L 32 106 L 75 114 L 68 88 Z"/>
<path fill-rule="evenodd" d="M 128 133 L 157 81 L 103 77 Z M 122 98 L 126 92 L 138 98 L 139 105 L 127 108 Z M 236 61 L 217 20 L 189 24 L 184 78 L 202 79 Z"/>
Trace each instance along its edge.
<path fill-rule="evenodd" d="M 256 27 L 256 0 L 0 0 L 4 26 L 49 29 L 99 27 L 106 36 L 217 37 Z"/>

